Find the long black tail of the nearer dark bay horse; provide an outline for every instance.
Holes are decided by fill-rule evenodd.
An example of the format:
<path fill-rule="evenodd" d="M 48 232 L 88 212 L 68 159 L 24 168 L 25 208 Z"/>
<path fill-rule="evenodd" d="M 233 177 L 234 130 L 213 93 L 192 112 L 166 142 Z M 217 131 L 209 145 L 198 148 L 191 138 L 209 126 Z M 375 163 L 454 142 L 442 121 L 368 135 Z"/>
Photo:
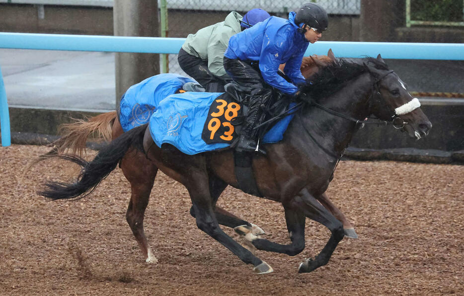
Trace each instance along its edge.
<path fill-rule="evenodd" d="M 122 134 L 105 147 L 101 148 L 95 158 L 87 162 L 77 155 L 56 155 L 62 159 L 70 160 L 82 167 L 76 183 L 47 182 L 46 189 L 38 194 L 53 200 L 81 199 L 86 197 L 116 168 L 119 160 L 133 147 L 144 151 L 143 139 L 148 124 L 139 126 Z"/>

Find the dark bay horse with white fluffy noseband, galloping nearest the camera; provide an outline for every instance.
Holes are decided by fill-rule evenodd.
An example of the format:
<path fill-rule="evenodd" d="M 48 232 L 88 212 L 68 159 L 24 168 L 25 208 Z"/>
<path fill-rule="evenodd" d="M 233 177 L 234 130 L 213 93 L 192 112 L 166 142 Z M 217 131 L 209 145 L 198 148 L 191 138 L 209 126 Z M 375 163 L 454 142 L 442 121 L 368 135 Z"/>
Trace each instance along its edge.
<path fill-rule="evenodd" d="M 341 59 L 331 63 L 307 85 L 301 86 L 301 90 L 313 100 L 303 104 L 281 142 L 264 145 L 267 154 L 253 158 L 259 191 L 265 198 L 283 205 L 291 243 L 284 245 L 261 239 L 252 234 L 250 227 L 238 227 L 238 231 L 259 250 L 296 255 L 305 247 L 306 217 L 325 225 L 331 231 L 329 240 L 317 256 L 300 264 L 300 273 L 327 264 L 344 236 L 343 224 L 317 199 L 327 189 L 339 157 L 357 126 L 373 114 L 388 122 L 399 119 L 401 128 L 412 138 L 425 137 L 432 127 L 419 108 L 418 100 L 412 98 L 380 55 L 377 59 L 366 58 L 362 62 Z M 214 212 L 216 201 L 228 185 L 238 187 L 233 173 L 232 149 L 187 155 L 169 144 L 159 148 L 148 125 L 144 125 L 113 140 L 91 162 L 74 155 L 59 156 L 82 166 L 77 182 L 48 182 L 47 188 L 39 194 L 54 200 L 84 197 L 119 161 L 124 161 L 128 153 L 135 155 L 133 149 L 144 151 L 147 157 L 147 164 L 138 168 L 138 176 L 150 175 L 147 169 L 156 167 L 182 183 L 189 192 L 197 226 L 201 230 L 244 263 L 252 264 L 256 273 L 273 271 L 219 227 Z M 153 183 L 154 175 L 150 176 Z M 149 189 L 140 194 L 148 196 Z M 148 201 L 148 197 L 139 200 Z"/>

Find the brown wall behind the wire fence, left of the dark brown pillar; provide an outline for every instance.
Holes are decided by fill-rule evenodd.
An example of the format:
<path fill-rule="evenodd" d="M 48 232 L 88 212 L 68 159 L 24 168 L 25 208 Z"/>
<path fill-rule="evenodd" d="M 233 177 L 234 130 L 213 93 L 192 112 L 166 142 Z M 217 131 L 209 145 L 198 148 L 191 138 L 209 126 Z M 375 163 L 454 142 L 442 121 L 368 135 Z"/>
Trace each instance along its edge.
<path fill-rule="evenodd" d="M 225 11 L 168 11 L 169 37 L 187 37 L 199 29 L 223 21 Z M 243 12 L 241 12 L 243 14 Z M 280 15 L 284 16 L 284 15 Z M 323 40 L 352 41 L 359 39 L 359 17 L 331 15 L 330 29 Z M 39 18 L 38 5 L 0 4 L 0 31 L 22 33 L 61 33 L 114 35 L 113 9 L 84 6 L 44 6 Z"/>

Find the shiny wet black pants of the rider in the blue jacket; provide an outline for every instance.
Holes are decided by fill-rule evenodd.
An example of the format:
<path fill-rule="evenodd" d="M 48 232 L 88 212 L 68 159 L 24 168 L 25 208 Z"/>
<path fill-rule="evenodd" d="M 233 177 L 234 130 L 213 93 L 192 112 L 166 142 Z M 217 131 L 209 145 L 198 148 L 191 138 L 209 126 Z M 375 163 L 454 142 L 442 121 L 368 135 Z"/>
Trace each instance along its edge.
<path fill-rule="evenodd" d="M 258 134 L 258 130 L 253 130 L 253 128 L 264 119 L 263 109 L 271 100 L 272 89 L 265 84 L 258 63 L 253 65 L 251 61 L 224 57 L 224 69 L 232 77 L 232 80 L 249 95 L 248 114 L 241 134 L 246 138 L 253 139 Z"/>

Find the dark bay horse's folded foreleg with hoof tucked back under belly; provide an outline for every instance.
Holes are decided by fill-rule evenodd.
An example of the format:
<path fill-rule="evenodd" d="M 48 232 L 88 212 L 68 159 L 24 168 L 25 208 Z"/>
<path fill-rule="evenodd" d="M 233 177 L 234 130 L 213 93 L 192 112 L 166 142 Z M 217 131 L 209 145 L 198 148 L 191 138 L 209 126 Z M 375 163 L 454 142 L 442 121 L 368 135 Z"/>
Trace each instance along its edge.
<path fill-rule="evenodd" d="M 240 226 L 235 231 L 243 235 L 245 239 L 253 244 L 258 250 L 283 253 L 289 256 L 300 254 L 305 248 L 305 215 L 289 207 L 285 207 L 285 221 L 287 222 L 287 229 L 289 231 L 291 244 L 283 245 L 262 239 L 253 235 L 249 228 Z"/>

